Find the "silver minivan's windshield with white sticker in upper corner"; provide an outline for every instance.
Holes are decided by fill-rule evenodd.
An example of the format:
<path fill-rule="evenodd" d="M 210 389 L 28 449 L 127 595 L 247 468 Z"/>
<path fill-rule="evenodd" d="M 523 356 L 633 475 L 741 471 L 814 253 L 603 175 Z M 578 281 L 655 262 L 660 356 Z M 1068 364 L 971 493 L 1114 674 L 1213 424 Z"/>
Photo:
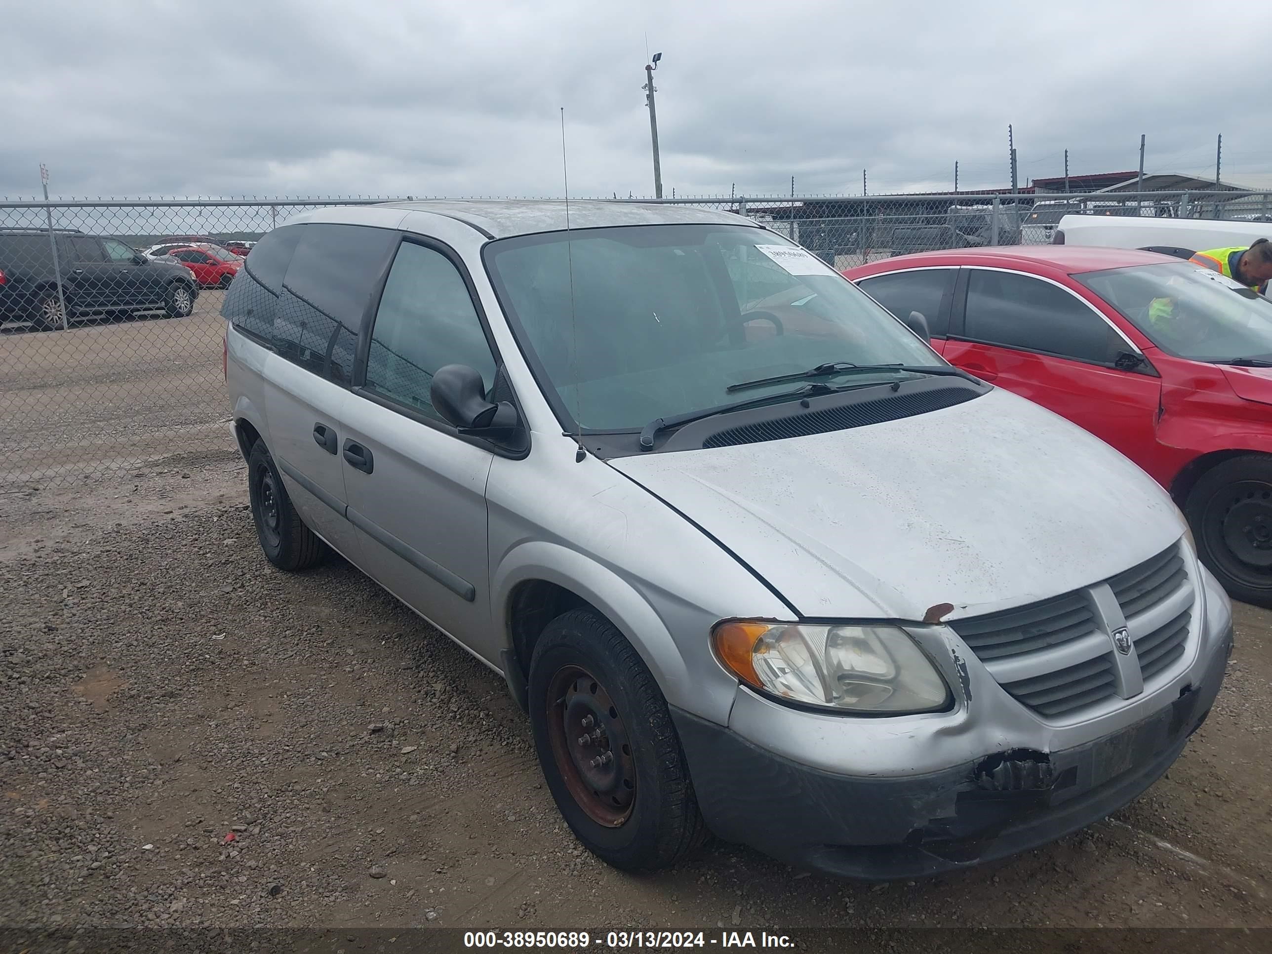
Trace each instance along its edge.
<path fill-rule="evenodd" d="M 651 420 L 791 391 L 829 363 L 948 368 L 925 342 L 791 242 L 740 225 L 637 225 L 492 242 L 486 265 L 562 424 Z M 932 315 L 935 317 L 935 315 Z M 880 368 L 831 385 L 921 377 Z"/>

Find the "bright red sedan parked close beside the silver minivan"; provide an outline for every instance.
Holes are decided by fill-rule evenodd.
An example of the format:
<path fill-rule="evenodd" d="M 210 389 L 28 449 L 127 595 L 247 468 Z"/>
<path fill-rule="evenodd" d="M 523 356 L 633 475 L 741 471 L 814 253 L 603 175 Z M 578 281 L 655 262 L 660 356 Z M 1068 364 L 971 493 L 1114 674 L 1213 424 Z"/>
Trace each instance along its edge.
<path fill-rule="evenodd" d="M 1178 258 L 1079 245 L 845 275 L 912 327 L 922 315 L 951 364 L 1131 458 L 1172 492 L 1227 591 L 1272 605 L 1272 301 Z"/>

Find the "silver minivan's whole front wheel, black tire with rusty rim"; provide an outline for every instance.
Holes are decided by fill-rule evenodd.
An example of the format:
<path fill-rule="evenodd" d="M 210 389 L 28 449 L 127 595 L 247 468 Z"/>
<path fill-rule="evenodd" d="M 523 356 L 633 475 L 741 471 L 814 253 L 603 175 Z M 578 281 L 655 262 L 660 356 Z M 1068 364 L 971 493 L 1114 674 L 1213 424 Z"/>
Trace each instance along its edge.
<path fill-rule="evenodd" d="M 530 726 L 561 815 L 627 871 L 669 868 L 706 836 L 667 701 L 631 644 L 593 609 L 562 613 L 530 661 Z"/>

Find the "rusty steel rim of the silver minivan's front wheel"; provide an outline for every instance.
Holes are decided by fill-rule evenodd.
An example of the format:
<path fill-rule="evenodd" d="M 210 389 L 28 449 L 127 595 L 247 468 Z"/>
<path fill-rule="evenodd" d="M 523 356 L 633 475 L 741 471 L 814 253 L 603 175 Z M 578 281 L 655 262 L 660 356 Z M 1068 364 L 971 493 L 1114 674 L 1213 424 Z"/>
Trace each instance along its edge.
<path fill-rule="evenodd" d="M 636 763 L 618 707 L 589 672 L 558 669 L 547 693 L 547 729 L 557 771 L 575 804 L 617 828 L 636 804 Z"/>

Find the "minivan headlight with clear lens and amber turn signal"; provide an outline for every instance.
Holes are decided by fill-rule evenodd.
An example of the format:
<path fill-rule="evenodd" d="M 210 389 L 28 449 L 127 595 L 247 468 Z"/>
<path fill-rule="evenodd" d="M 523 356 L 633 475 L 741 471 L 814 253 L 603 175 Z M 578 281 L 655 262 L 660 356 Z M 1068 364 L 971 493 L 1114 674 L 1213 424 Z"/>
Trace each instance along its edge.
<path fill-rule="evenodd" d="M 851 712 L 931 712 L 949 705 L 936 667 L 895 626 L 726 622 L 711 633 L 725 668 L 794 702 Z"/>

